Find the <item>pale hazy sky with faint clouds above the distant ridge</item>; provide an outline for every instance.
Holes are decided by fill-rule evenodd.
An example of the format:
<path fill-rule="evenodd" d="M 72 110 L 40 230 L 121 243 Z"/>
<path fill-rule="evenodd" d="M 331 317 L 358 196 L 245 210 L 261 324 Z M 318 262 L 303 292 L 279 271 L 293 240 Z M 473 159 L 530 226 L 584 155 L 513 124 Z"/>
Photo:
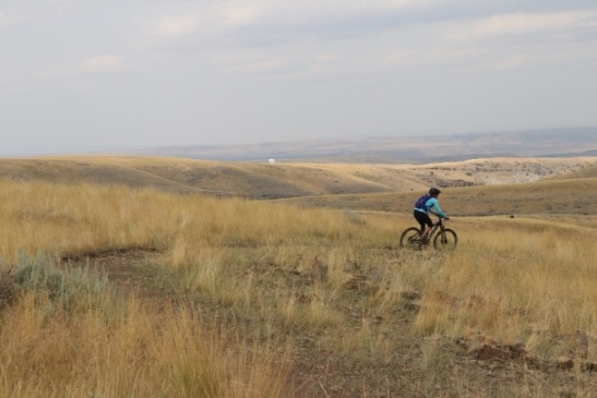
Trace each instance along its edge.
<path fill-rule="evenodd" d="M 0 0 L 0 155 L 588 125 L 594 0 Z"/>

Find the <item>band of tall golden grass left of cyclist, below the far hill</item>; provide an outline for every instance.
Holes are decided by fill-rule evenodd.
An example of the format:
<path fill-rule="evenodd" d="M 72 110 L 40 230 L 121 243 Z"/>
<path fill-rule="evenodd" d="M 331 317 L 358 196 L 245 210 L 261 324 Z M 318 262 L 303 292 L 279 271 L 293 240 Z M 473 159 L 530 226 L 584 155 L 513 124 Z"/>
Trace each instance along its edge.
<path fill-rule="evenodd" d="M 154 248 L 172 250 L 176 265 L 189 262 L 204 246 L 314 241 L 330 245 L 362 240 L 377 244 L 375 236 L 387 237 L 347 219 L 341 212 L 301 210 L 242 198 L 178 195 L 121 185 L 2 181 L 1 186 L 0 255 L 9 263 L 17 261 L 20 251 L 58 256 Z"/>

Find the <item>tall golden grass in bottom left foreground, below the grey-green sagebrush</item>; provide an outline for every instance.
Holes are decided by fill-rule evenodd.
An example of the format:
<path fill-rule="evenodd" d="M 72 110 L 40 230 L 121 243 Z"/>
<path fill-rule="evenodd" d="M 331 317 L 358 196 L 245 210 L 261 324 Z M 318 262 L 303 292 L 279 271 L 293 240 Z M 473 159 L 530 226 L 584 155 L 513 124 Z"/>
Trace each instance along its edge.
<path fill-rule="evenodd" d="M 286 352 L 203 325 L 196 309 L 132 299 L 117 322 L 47 316 L 32 294 L 2 315 L 0 397 L 284 397 Z M 235 327 L 228 325 L 229 327 Z"/>

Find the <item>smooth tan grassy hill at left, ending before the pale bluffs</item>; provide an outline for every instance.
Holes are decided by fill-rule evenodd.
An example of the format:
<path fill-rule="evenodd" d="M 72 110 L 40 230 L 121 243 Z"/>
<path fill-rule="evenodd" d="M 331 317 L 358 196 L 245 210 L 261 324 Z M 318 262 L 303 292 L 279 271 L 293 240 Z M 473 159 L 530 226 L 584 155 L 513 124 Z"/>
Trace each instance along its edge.
<path fill-rule="evenodd" d="M 251 198 L 387 192 L 404 180 L 394 178 L 380 183 L 371 181 L 368 176 L 360 177 L 350 167 L 132 157 L 2 159 L 0 178 L 153 186 L 164 191 L 203 192 Z"/>

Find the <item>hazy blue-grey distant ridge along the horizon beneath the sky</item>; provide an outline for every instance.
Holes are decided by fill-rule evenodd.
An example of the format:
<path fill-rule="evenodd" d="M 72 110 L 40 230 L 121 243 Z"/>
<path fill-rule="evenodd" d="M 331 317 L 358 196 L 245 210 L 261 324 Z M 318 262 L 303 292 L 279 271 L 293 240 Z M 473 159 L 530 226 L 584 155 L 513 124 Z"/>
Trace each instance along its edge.
<path fill-rule="evenodd" d="M 406 137 L 311 140 L 248 145 L 189 145 L 119 154 L 206 160 L 429 162 L 488 157 L 597 156 L 597 126 Z"/>

